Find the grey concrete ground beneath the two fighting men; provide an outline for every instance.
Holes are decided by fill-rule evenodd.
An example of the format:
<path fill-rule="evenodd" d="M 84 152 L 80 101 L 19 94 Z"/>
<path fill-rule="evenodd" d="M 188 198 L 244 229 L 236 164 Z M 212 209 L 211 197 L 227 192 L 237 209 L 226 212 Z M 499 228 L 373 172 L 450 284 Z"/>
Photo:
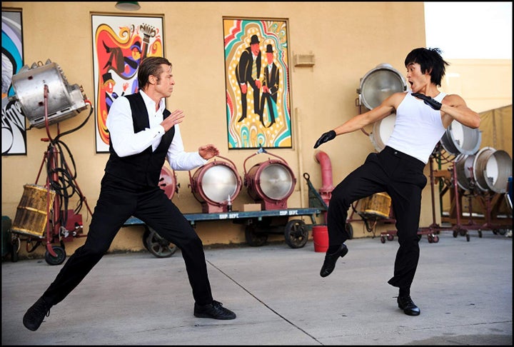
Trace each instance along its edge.
<path fill-rule="evenodd" d="M 420 316 L 396 304 L 394 241 L 356 238 L 326 278 L 313 242 L 206 248 L 213 296 L 232 321 L 193 316 L 180 251 L 107 254 L 38 331 L 22 317 L 61 266 L 4 261 L 2 345 L 508 345 L 513 343 L 512 238 L 441 232 L 420 241 L 411 296 Z"/>

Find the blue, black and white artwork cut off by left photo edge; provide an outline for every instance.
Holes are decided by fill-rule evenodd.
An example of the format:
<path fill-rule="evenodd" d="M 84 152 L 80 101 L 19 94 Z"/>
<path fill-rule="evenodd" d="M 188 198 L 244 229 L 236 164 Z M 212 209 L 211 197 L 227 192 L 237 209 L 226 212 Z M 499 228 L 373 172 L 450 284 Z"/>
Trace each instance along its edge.
<path fill-rule="evenodd" d="M 25 115 L 12 77 L 24 66 L 21 9 L 2 9 L 2 156 L 26 155 Z"/>

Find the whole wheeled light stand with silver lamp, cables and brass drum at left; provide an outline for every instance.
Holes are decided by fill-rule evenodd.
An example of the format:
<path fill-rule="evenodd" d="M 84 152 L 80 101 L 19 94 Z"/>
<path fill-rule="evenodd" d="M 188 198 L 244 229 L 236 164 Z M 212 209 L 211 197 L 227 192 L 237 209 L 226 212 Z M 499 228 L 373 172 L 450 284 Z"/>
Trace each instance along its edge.
<path fill-rule="evenodd" d="M 19 247 L 21 238 L 18 234 L 28 234 L 27 251 L 30 253 L 41 245 L 42 240 L 46 239 L 46 262 L 50 265 L 59 265 L 66 259 L 64 241 L 73 241 L 74 237 L 85 236 L 81 234 L 82 218 L 79 214 L 82 204 L 85 203 L 89 213 L 93 214 L 86 197 L 76 182 L 73 156 L 71 156 L 68 146 L 60 139 L 84 126 L 93 114 L 93 107 L 91 101 L 87 100 L 83 94 L 82 88 L 76 84 L 69 85 L 60 66 L 51 63 L 50 60 L 46 61 L 45 65 L 33 64 L 31 68 L 24 66 L 19 74 L 13 76 L 12 84 L 16 91 L 19 107 L 31 124 L 28 130 L 34 126 L 36 128 L 45 127 L 48 137 L 41 141 L 49 142 L 36 176 L 35 186 L 24 186 L 26 189 L 35 188 L 36 191 L 46 195 L 46 198 L 30 196 L 30 191 L 28 196 L 24 193 L 11 228 L 11 231 L 16 234 L 13 241 Z M 43 89 L 42 95 L 41 89 Z M 41 100 L 41 96 L 43 100 Z M 91 111 L 82 124 L 61 134 L 59 122 L 76 116 L 86 109 L 87 105 L 91 107 Z M 49 126 L 51 124 L 56 124 L 57 135 L 55 138 L 50 134 Z M 73 171 L 66 161 L 64 151 L 69 154 Z M 44 166 L 46 166 L 46 182 L 44 186 L 37 186 Z M 69 210 L 69 198 L 74 193 L 79 195 L 79 203 L 74 210 Z M 40 205 L 46 205 L 46 208 Z M 45 209 L 46 211 L 44 211 Z M 46 214 L 44 214 L 45 212 Z M 44 216 L 43 219 L 41 219 L 41 215 Z M 34 221 L 39 222 L 36 223 L 36 227 L 33 227 Z M 46 236 L 44 236 L 45 231 Z M 36 243 L 33 245 L 34 236 L 36 236 Z M 60 245 L 53 246 L 52 243 L 60 243 Z"/>

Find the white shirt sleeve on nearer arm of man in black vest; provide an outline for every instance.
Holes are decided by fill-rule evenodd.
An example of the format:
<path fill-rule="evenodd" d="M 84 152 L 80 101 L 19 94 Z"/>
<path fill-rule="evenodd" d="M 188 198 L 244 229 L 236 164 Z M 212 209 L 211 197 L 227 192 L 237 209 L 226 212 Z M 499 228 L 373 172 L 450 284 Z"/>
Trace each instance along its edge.
<path fill-rule="evenodd" d="M 161 125 L 134 133 L 131 106 L 124 96 L 114 100 L 106 126 L 114 151 L 121 157 L 141 153 L 148 146 L 158 144 L 165 134 Z"/>

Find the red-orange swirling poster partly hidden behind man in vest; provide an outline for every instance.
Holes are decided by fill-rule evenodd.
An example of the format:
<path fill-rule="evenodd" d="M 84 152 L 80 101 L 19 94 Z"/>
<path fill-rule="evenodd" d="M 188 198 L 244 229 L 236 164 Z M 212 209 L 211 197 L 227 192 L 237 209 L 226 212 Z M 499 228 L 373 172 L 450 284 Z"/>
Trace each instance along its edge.
<path fill-rule="evenodd" d="M 163 56 L 162 16 L 92 14 L 96 153 L 109 152 L 107 114 L 114 99 L 138 91 L 146 56 Z"/>

